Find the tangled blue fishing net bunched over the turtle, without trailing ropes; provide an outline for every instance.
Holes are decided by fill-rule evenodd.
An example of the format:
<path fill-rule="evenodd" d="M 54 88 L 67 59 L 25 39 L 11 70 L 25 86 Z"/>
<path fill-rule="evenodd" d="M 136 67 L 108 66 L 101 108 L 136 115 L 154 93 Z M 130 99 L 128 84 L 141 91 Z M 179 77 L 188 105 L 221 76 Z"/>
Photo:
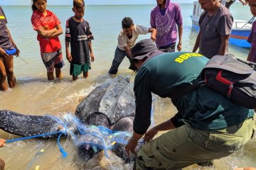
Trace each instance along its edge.
<path fill-rule="evenodd" d="M 59 118 L 52 115 L 48 116 L 63 126 L 63 131 L 72 138 L 76 147 L 83 146 L 87 149 L 92 147 L 95 152 L 99 149 L 105 151 L 114 149 L 117 144 L 127 145 L 132 137 L 132 132 L 110 130 L 103 126 L 85 125 L 70 113 Z M 142 144 L 143 140 L 139 140 L 139 145 Z"/>

